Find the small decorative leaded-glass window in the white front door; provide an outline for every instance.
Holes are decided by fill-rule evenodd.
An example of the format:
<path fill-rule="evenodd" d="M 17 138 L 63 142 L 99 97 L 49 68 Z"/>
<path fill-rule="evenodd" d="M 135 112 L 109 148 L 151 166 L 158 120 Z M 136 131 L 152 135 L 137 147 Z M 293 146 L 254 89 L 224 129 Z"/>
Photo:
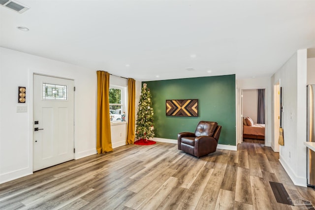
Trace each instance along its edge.
<path fill-rule="evenodd" d="M 44 100 L 66 100 L 67 86 L 43 83 Z"/>

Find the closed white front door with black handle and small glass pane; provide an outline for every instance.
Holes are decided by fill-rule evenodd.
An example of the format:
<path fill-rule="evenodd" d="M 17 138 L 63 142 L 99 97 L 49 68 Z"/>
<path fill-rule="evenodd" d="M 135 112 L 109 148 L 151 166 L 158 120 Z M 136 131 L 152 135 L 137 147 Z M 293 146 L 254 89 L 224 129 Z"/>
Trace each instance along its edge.
<path fill-rule="evenodd" d="M 33 171 L 74 159 L 74 81 L 33 75 Z"/>

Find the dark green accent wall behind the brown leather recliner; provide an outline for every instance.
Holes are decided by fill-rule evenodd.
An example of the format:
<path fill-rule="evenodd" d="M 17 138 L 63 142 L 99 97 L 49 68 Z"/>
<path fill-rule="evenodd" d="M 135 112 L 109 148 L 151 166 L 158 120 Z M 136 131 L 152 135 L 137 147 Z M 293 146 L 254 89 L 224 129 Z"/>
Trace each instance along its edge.
<path fill-rule="evenodd" d="M 236 145 L 235 75 L 149 81 L 158 138 L 177 140 L 183 131 L 194 132 L 201 120 L 222 125 L 219 144 Z M 198 99 L 198 117 L 166 116 L 166 100 Z"/>

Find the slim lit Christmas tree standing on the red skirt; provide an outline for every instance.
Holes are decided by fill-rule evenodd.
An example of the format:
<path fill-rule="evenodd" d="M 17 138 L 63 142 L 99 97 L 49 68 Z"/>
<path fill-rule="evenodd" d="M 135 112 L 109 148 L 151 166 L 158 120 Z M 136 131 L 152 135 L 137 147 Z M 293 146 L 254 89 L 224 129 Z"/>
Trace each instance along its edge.
<path fill-rule="evenodd" d="M 144 141 L 154 137 L 153 108 L 151 93 L 147 84 L 143 84 L 137 112 L 136 138 Z"/>

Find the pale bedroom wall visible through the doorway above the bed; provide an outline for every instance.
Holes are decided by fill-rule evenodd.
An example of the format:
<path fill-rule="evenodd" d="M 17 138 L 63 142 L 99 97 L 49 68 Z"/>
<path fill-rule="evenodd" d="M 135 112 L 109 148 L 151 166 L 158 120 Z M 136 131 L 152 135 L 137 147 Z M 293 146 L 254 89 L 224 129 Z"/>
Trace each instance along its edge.
<path fill-rule="evenodd" d="M 257 123 L 258 114 L 258 90 L 243 90 L 243 117 L 250 117 Z"/>

